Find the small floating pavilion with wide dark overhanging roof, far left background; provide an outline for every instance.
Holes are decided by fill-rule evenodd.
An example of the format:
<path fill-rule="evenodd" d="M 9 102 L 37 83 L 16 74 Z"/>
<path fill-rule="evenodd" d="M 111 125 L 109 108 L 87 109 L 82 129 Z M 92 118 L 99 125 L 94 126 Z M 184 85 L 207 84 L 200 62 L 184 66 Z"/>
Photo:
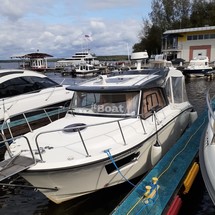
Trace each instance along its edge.
<path fill-rule="evenodd" d="M 52 55 L 40 52 L 29 53 L 25 55 L 16 55 L 11 58 L 22 59 L 21 69 L 30 69 L 35 71 L 46 71 L 48 69 L 47 58 L 53 57 Z"/>

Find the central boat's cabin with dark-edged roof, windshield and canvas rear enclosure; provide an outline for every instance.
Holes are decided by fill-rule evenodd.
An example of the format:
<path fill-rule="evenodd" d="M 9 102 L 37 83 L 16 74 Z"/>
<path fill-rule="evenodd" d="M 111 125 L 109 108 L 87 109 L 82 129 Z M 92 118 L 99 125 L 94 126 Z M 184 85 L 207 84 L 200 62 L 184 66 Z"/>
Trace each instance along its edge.
<path fill-rule="evenodd" d="M 75 92 L 71 110 L 85 115 L 147 118 L 169 103 L 187 101 L 181 72 L 176 71 L 179 76 L 167 81 L 164 70 L 150 73 L 102 75 L 79 86 L 70 86 Z"/>

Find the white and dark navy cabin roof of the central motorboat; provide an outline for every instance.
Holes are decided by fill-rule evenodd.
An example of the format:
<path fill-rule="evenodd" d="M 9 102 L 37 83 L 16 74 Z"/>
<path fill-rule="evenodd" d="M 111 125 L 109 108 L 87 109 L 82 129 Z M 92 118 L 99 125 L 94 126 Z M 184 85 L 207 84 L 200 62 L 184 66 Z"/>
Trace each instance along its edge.
<path fill-rule="evenodd" d="M 67 89 L 83 92 L 129 92 L 141 89 L 163 87 L 169 69 L 145 69 L 116 72 L 110 76 L 101 75 L 97 78 L 71 85 Z"/>

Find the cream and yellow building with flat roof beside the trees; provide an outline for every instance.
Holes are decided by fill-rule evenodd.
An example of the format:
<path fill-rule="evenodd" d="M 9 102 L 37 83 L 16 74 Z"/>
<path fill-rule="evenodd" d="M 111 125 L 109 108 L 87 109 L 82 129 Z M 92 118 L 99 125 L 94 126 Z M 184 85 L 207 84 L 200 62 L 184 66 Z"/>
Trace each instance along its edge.
<path fill-rule="evenodd" d="M 215 26 L 168 30 L 163 33 L 162 52 L 170 59 L 190 61 L 206 55 L 215 61 Z"/>

